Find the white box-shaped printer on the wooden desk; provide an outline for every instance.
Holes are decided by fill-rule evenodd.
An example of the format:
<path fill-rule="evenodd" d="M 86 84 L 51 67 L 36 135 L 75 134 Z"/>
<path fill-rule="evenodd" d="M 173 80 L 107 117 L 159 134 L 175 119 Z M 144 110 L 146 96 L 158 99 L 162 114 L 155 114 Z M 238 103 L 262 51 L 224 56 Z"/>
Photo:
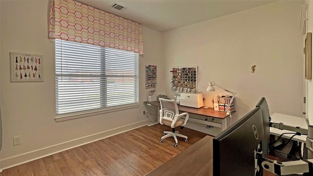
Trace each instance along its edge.
<path fill-rule="evenodd" d="M 180 93 L 179 105 L 192 108 L 203 107 L 202 93 Z"/>

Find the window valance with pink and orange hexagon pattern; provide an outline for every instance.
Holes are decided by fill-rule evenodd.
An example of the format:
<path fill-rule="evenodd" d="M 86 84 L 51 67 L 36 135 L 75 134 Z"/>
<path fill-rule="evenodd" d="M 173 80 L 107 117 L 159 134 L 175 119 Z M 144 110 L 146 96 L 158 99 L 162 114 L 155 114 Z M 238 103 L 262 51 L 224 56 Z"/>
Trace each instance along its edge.
<path fill-rule="evenodd" d="M 142 25 L 74 0 L 53 0 L 49 39 L 143 53 Z"/>

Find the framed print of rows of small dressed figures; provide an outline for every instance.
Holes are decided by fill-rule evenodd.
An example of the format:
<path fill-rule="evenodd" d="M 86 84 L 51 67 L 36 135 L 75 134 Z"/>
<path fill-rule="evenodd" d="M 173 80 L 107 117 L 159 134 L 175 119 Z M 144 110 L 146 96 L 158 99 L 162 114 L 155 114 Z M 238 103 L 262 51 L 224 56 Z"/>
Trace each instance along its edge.
<path fill-rule="evenodd" d="M 10 53 L 11 82 L 42 82 L 43 56 L 37 54 Z"/>

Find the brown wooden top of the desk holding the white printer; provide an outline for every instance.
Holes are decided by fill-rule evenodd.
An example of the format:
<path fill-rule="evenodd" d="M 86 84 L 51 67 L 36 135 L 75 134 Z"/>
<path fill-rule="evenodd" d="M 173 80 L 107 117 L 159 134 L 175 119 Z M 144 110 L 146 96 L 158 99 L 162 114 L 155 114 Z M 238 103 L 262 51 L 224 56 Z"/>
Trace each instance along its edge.
<path fill-rule="evenodd" d="M 145 101 L 145 104 L 151 104 L 154 106 L 160 106 L 160 102 L 159 101 Z M 217 111 L 214 110 L 213 108 L 191 108 L 191 107 L 185 107 L 185 106 L 180 106 L 178 105 L 178 109 L 180 111 L 184 111 L 184 112 L 190 112 L 190 113 L 194 113 L 194 114 L 199 114 L 199 115 L 205 115 L 205 116 L 210 116 L 210 117 L 215 117 L 215 118 L 220 118 L 220 119 L 224 119 L 226 117 L 228 117 L 229 115 L 226 114 L 226 112 L 222 112 L 222 111 Z"/>

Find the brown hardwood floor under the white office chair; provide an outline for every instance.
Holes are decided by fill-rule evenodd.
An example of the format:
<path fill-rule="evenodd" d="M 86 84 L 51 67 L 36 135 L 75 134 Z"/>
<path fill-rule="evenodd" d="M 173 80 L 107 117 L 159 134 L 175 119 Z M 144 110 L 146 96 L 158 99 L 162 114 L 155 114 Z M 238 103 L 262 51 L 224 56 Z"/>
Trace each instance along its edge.
<path fill-rule="evenodd" d="M 207 135 L 177 130 L 188 136 L 187 143 L 179 138 L 178 148 L 173 138 L 159 142 L 163 131 L 171 131 L 168 126 L 144 126 L 3 170 L 0 176 L 143 176 Z"/>

